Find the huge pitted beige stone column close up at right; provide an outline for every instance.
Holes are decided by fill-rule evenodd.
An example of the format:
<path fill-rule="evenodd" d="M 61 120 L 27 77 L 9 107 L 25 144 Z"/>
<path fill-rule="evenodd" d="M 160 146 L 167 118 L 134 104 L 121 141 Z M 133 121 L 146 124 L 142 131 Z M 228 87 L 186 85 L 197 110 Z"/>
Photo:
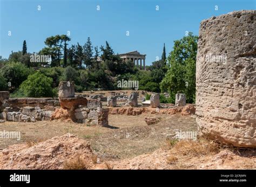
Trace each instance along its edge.
<path fill-rule="evenodd" d="M 196 115 L 199 135 L 256 147 L 256 11 L 200 24 Z"/>

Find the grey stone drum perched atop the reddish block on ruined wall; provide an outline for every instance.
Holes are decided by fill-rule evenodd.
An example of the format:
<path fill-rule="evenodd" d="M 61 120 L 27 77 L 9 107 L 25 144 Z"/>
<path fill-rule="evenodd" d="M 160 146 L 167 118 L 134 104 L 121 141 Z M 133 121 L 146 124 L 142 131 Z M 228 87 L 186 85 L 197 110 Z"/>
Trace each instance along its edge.
<path fill-rule="evenodd" d="M 59 82 L 59 98 L 75 97 L 75 83 L 73 81 Z"/>

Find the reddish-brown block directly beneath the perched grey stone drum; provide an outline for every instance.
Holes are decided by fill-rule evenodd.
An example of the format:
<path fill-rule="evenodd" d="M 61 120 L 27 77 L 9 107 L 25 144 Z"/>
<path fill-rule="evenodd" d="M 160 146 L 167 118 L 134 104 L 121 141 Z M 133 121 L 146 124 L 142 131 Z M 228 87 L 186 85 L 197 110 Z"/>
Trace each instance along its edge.
<path fill-rule="evenodd" d="M 60 98 L 60 106 L 63 109 L 77 109 L 78 105 L 87 105 L 87 99 L 85 97 L 71 97 L 71 98 Z"/>

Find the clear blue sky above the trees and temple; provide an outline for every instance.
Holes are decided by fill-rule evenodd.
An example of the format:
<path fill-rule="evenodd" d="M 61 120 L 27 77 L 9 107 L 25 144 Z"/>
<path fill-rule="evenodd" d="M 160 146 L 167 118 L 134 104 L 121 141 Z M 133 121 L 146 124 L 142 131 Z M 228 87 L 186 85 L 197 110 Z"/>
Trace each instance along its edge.
<path fill-rule="evenodd" d="M 184 37 L 186 31 L 198 35 L 201 20 L 235 10 L 255 10 L 256 0 L 0 0 L 0 8 L 3 57 L 21 51 L 23 40 L 28 52 L 38 52 L 47 37 L 70 31 L 69 46 L 84 45 L 87 37 L 98 47 L 107 40 L 115 53 L 146 54 L 150 65 L 156 56 L 161 57 L 164 43 L 169 54 L 173 40 Z"/>

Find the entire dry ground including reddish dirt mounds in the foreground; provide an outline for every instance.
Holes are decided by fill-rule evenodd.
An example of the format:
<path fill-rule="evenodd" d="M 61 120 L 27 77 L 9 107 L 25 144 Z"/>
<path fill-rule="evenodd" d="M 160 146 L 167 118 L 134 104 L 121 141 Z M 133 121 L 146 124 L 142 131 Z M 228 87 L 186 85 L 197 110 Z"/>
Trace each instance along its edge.
<path fill-rule="evenodd" d="M 160 122 L 146 125 L 145 117 L 160 117 Z M 21 131 L 22 136 L 21 141 L 0 140 L 4 149 L 0 150 L 0 169 L 256 168 L 255 149 L 230 148 L 204 139 L 169 139 L 175 129 L 196 131 L 193 116 L 110 115 L 109 124 L 99 127 L 57 120 L 6 121 L 0 124 L 0 131 Z M 67 133 L 77 137 L 67 138 Z"/>

